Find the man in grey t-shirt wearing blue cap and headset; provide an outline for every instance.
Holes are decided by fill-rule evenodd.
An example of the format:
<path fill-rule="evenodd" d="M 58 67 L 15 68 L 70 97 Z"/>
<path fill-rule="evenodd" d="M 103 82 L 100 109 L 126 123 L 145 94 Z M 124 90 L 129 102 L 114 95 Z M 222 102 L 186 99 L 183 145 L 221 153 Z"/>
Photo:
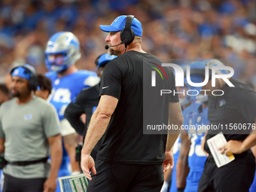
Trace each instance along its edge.
<path fill-rule="evenodd" d="M 8 160 L 3 191 L 55 191 L 62 156 L 56 110 L 33 96 L 37 79 L 32 66 L 18 66 L 11 76 L 15 98 L 0 108 L 0 152 Z"/>

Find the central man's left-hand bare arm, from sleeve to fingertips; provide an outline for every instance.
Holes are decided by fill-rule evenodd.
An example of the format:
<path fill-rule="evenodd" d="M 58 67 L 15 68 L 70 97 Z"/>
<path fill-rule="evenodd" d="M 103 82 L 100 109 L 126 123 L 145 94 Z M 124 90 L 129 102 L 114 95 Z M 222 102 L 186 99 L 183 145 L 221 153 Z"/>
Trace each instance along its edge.
<path fill-rule="evenodd" d="M 114 110 L 117 107 L 117 102 L 118 99 L 114 96 L 101 96 L 99 105 L 90 120 L 87 135 L 84 139 L 84 146 L 81 151 L 81 168 L 86 177 L 90 180 L 92 180 L 90 169 L 92 169 L 93 174 L 96 175 L 94 160 L 93 157 L 90 156 L 90 153 L 99 139 L 101 139 L 105 133 L 111 119 L 111 115 L 114 113 Z"/>

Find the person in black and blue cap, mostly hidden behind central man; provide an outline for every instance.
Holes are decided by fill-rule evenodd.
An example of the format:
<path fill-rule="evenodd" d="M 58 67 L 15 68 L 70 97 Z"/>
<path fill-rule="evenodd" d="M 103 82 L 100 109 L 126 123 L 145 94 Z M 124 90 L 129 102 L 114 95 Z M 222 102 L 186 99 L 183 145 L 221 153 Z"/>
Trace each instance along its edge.
<path fill-rule="evenodd" d="M 105 65 L 114 59 L 117 56 L 111 56 L 108 53 L 102 54 L 96 58 L 95 64 L 97 66 L 97 75 L 99 78 L 102 78 L 102 72 Z M 69 123 L 74 127 L 77 133 L 81 136 L 85 137 L 87 132 L 87 126 L 90 122 L 90 118 L 92 117 L 93 112 L 99 104 L 99 84 L 96 84 L 93 87 L 81 90 L 78 94 L 75 102 L 69 103 L 68 107 L 65 111 L 65 117 L 69 120 Z M 81 120 L 81 114 L 86 114 L 86 123 L 84 124 Z M 98 144 L 93 148 L 91 156 L 93 160 L 96 160 L 97 151 L 99 151 L 101 140 L 99 140 Z M 81 158 L 81 154 L 76 159 L 79 160 Z"/>

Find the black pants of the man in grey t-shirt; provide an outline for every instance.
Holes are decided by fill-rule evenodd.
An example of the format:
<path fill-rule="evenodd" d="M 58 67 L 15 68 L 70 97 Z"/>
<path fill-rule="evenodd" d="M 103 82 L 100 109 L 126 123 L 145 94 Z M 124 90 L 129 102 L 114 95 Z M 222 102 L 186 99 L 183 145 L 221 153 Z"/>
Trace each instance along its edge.
<path fill-rule="evenodd" d="M 42 192 L 46 178 L 14 178 L 5 174 L 3 192 Z"/>

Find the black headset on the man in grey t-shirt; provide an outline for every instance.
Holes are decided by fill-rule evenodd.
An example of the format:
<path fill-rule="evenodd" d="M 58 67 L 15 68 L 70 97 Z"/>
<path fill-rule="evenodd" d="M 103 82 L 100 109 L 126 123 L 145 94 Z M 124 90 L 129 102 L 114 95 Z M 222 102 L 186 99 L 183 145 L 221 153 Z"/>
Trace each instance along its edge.
<path fill-rule="evenodd" d="M 28 84 L 28 87 L 29 87 L 29 90 L 30 91 L 35 91 L 38 89 L 38 75 L 36 75 L 36 73 L 30 69 L 28 66 L 24 65 L 24 66 L 17 66 L 17 67 L 14 67 L 13 69 L 11 69 L 11 72 L 10 74 L 12 75 L 12 73 L 14 72 L 15 69 L 19 68 L 19 67 L 22 67 L 23 69 L 25 69 L 25 73 L 26 74 L 29 74 L 29 84 Z"/>

